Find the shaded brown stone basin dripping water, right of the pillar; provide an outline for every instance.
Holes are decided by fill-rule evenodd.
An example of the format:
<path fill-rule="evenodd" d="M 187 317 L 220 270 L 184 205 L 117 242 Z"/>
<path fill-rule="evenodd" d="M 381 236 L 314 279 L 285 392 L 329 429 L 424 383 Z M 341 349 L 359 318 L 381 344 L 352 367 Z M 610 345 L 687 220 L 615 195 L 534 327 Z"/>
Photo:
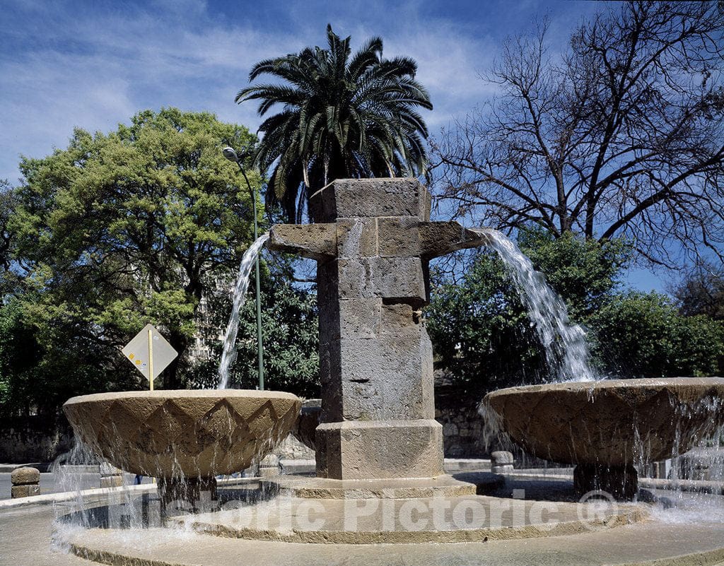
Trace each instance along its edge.
<path fill-rule="evenodd" d="M 582 476 L 635 480 L 633 465 L 681 455 L 714 434 L 724 425 L 724 379 L 510 387 L 487 394 L 481 410 L 492 411 L 489 418 L 526 452 L 578 465 L 576 479 L 583 489 L 591 485 Z"/>

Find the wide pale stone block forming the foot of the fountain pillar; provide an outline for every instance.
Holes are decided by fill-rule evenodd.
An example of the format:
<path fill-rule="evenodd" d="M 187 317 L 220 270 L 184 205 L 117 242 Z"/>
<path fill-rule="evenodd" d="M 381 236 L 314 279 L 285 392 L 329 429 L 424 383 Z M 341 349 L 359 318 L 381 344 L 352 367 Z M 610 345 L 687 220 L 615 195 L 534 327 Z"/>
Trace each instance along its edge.
<path fill-rule="evenodd" d="M 442 426 L 429 419 L 343 421 L 317 427 L 317 476 L 432 478 L 442 470 Z"/>

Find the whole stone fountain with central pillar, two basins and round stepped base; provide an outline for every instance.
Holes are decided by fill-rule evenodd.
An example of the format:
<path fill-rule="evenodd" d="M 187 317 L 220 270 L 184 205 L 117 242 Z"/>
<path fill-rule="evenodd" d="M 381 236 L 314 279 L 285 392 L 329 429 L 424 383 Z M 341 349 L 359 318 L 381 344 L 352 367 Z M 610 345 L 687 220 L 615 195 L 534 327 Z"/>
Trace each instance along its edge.
<path fill-rule="evenodd" d="M 127 539 L 113 532 L 90 531 L 70 541 L 73 552 L 106 564 L 146 565 L 226 564 L 232 557 L 238 557 L 235 563 L 256 559 L 307 565 L 353 559 L 364 564 L 471 564 L 486 557 L 486 563 L 529 565 L 543 556 L 556 564 L 599 565 L 678 556 L 682 544 L 695 540 L 687 548 L 696 559 L 702 552 L 710 553 L 707 563 L 724 559 L 722 525 L 689 531 L 677 527 L 666 534 L 668 542 L 644 544 L 641 551 L 641 541 L 660 533 L 655 525 L 640 522 L 647 517 L 641 507 L 620 504 L 589 517 L 589 503 L 564 498 L 546 507 L 535 497 L 553 497 L 560 486 L 550 493 L 547 484 L 532 486 L 523 497 L 516 495 L 518 484 L 509 485 L 502 476 L 446 476 L 442 427 L 434 420 L 432 345 L 421 318 L 429 296 L 428 262 L 453 250 L 486 245 L 486 233 L 455 222 L 430 222 L 429 194 L 414 179 L 342 179 L 313 198 L 321 198 L 321 223 L 274 226 L 269 248 L 317 262 L 321 410 L 313 404 L 305 407 L 295 428 L 316 450 L 316 478 L 270 478 L 262 486 L 274 489 L 260 491 L 282 490 L 285 497 L 172 518 L 169 525 L 203 533 L 195 535 L 186 552 L 164 534 L 169 529 L 153 531 L 155 538 L 145 537 L 138 549 L 128 549 Z M 618 470 L 621 462 L 624 475 L 630 475 L 630 462 L 638 463 L 635 455 L 675 451 L 670 439 L 677 431 L 676 449 L 706 434 L 712 408 L 720 407 L 724 395 L 721 380 L 667 381 L 656 387 L 640 381 L 607 383 L 611 385 L 515 388 L 490 395 L 487 403 L 510 436 L 529 451 L 578 463 L 584 470 L 577 480 L 583 489 L 589 478 L 600 483 L 602 476 L 589 465 L 605 461 Z M 273 444 L 264 440 L 260 451 L 260 438 L 279 438 L 300 413 L 298 400 L 285 394 L 240 392 L 247 398 L 238 408 L 234 392 L 208 394 L 218 397 L 192 411 L 184 426 L 188 435 L 169 435 L 164 423 L 167 415 L 177 421 L 188 415 L 177 410 L 188 406 L 178 397 L 167 409 L 159 407 L 169 400 L 152 396 L 126 401 L 128 394 L 122 394 L 103 404 L 104 396 L 99 396 L 90 400 L 92 409 L 80 398 L 68 402 L 66 411 L 79 435 L 119 467 L 151 473 L 158 462 L 173 470 L 184 461 L 190 475 L 242 466 Z M 230 416 L 219 418 L 214 428 L 207 424 L 214 418 L 207 417 L 219 404 Z M 688 415 L 686 426 L 682 414 Z M 613 426 L 613 415 L 620 426 Z M 90 421 L 96 424 L 89 426 Z M 149 432 L 150 421 L 156 428 Z M 628 448 L 636 433 L 624 431 L 626 427 L 644 435 L 639 452 Z M 170 437 L 172 442 L 161 440 Z M 214 465 L 205 468 L 207 460 Z M 622 489 L 629 489 L 628 483 Z M 617 529 L 621 525 L 626 528 Z M 621 544 L 624 539 L 628 546 Z M 444 542 L 466 544 L 448 550 L 437 544 Z M 343 546 L 337 550 L 333 543 Z M 396 543 L 400 550 L 369 543 Z M 350 551 L 349 544 L 363 546 Z M 557 558 L 561 548 L 571 552 L 569 562 Z M 676 560 L 656 563 L 689 563 Z"/>

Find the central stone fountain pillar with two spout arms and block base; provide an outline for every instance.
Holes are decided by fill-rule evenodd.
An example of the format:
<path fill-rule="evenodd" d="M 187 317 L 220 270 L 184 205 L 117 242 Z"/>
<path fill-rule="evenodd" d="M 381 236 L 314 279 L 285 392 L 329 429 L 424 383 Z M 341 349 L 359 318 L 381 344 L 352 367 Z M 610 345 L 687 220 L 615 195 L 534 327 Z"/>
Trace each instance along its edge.
<path fill-rule="evenodd" d="M 275 226 L 269 240 L 317 261 L 317 476 L 440 476 L 442 426 L 421 317 L 428 261 L 483 238 L 429 222 L 430 197 L 416 179 L 339 179 L 321 205 L 326 224 Z"/>

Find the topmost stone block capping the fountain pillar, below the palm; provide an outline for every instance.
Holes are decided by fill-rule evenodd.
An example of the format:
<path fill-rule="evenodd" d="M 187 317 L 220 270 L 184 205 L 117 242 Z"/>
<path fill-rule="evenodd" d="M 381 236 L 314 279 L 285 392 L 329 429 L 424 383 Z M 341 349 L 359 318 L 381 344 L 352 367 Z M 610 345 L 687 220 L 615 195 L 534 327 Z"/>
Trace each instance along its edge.
<path fill-rule="evenodd" d="M 430 195 L 417 179 L 337 179 L 322 193 L 322 220 L 417 216 L 428 220 Z"/>

